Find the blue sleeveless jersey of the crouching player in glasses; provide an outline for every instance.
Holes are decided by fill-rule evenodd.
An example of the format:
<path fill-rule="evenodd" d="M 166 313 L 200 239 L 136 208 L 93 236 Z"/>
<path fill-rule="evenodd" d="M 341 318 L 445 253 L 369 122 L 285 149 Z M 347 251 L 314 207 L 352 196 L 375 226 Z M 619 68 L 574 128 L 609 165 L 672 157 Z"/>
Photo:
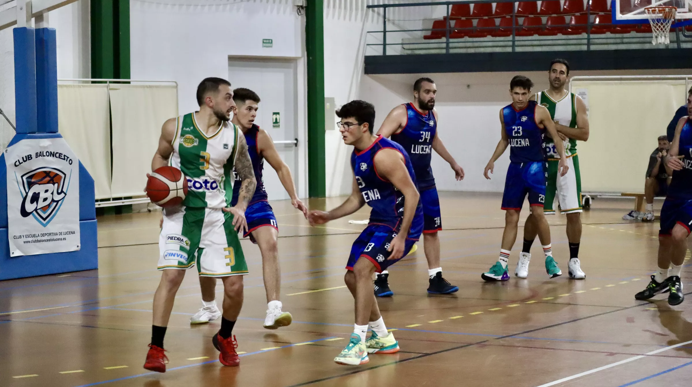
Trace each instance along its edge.
<path fill-rule="evenodd" d="M 411 176 L 411 180 L 413 180 L 415 184 L 415 172 L 413 171 L 411 160 L 406 154 L 406 151 L 403 150 L 401 145 L 392 140 L 383 138 L 382 136 L 378 136 L 375 142 L 363 151 L 358 152 L 354 149 L 351 154 L 351 167 L 354 176 L 356 176 L 358 189 L 361 190 L 363 199 L 365 199 L 367 205 L 372 207 L 370 211 L 370 224 L 387 225 L 398 231 L 399 227 L 401 227 L 401 220 L 403 218 L 403 203 L 405 198 L 403 193 L 396 189 L 391 182 L 384 180 L 377 174 L 373 159 L 377 152 L 382 149 L 395 149 L 401 152 L 404 160 L 406 160 L 406 168 Z M 420 202 L 418 202 L 415 217 L 421 219 L 423 217 L 423 209 Z M 408 234 L 409 236 L 415 235 L 415 238 L 418 238 L 422 231 L 423 223 L 413 222 Z"/>

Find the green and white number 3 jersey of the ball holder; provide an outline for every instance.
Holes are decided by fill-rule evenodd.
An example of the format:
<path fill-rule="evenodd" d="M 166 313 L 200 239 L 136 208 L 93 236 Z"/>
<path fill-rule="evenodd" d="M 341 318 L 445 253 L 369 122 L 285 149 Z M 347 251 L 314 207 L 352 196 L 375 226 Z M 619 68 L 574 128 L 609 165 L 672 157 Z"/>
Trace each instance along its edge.
<path fill-rule="evenodd" d="M 233 163 L 241 131 L 231 122 L 221 122 L 211 135 L 205 135 L 194 113 L 176 120 L 170 165 L 188 179 L 185 207 L 223 208 L 233 196 Z"/>

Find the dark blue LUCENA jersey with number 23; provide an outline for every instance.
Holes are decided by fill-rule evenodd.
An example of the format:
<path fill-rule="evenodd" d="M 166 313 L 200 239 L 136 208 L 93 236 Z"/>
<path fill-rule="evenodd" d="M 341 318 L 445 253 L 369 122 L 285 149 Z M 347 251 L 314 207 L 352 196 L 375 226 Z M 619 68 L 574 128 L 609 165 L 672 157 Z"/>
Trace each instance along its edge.
<path fill-rule="evenodd" d="M 509 138 L 509 160 L 511 162 L 534 162 L 545 160 L 543 137 L 545 130 L 536 124 L 538 102 L 529 101 L 522 111 L 513 104 L 502 108 L 504 131 Z"/>

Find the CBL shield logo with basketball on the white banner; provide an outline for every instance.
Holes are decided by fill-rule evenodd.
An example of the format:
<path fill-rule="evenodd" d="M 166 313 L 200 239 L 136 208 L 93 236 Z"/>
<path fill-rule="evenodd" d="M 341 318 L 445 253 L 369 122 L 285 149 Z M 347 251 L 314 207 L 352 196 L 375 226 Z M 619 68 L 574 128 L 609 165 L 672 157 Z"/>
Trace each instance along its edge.
<path fill-rule="evenodd" d="M 33 216 L 46 227 L 60 210 L 69 186 L 65 173 L 57 168 L 41 167 L 24 173 L 21 182 L 17 179 L 19 193 L 24 198 L 19 208 L 21 216 Z"/>

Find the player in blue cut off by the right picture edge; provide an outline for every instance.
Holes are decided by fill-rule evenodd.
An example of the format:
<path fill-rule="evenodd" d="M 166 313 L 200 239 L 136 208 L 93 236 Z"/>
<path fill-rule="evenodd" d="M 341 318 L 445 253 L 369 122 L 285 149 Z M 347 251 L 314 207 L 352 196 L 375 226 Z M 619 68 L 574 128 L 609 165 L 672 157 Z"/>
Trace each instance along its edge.
<path fill-rule="evenodd" d="M 673 144 L 664 156 L 666 167 L 673 169 L 673 179 L 661 208 L 658 272 L 651 276 L 646 289 L 635 294 L 637 300 L 664 292 L 670 292 L 670 305 L 680 305 L 685 298 L 680 273 L 687 250 L 685 239 L 692 227 L 692 95 L 687 97 L 687 114 L 677 122 Z"/>

